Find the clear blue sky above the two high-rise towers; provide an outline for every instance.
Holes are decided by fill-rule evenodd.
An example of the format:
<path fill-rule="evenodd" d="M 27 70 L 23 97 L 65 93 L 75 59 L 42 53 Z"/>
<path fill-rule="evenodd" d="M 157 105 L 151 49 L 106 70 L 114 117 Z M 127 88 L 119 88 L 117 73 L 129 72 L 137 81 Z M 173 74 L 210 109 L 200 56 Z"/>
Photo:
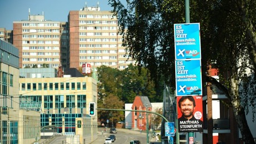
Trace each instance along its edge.
<path fill-rule="evenodd" d="M 0 28 L 13 29 L 13 21 L 28 19 L 31 15 L 45 15 L 46 20 L 66 22 L 69 11 L 78 11 L 85 6 L 97 6 L 101 11 L 111 11 L 108 0 L 0 0 Z"/>

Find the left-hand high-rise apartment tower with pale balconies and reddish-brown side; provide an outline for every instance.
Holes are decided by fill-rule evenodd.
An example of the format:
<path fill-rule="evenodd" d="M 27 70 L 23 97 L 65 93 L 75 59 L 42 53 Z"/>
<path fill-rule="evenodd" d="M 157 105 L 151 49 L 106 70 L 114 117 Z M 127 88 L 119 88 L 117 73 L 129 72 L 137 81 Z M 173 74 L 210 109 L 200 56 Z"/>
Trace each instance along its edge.
<path fill-rule="evenodd" d="M 13 22 L 13 44 L 19 49 L 19 68 L 58 68 L 61 64 L 61 34 L 66 22 L 47 21 L 42 14 Z"/>

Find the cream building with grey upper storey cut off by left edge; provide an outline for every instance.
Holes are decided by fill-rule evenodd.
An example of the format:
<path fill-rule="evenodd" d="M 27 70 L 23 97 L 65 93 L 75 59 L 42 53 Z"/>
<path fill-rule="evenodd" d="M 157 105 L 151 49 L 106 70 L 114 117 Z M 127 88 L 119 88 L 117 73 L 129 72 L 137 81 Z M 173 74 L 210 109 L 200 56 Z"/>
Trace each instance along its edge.
<path fill-rule="evenodd" d="M 18 49 L 0 39 L 0 143 L 32 143 L 39 137 L 40 113 L 19 109 Z"/>

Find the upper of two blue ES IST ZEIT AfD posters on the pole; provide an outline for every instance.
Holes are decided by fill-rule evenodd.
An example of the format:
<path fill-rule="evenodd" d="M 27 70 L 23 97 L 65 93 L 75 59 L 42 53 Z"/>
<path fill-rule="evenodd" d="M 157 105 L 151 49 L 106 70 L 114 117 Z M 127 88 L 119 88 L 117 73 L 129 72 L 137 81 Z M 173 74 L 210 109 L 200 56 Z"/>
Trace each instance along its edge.
<path fill-rule="evenodd" d="M 200 59 L 200 24 L 174 24 L 175 59 Z"/>

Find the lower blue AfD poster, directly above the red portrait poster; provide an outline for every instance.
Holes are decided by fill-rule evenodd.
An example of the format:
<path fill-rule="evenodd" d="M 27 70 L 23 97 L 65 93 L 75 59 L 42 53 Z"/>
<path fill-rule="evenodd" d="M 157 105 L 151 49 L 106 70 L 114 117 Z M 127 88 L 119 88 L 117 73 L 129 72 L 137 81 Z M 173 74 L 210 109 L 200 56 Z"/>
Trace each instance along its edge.
<path fill-rule="evenodd" d="M 175 61 L 176 96 L 201 96 L 201 60 Z"/>

